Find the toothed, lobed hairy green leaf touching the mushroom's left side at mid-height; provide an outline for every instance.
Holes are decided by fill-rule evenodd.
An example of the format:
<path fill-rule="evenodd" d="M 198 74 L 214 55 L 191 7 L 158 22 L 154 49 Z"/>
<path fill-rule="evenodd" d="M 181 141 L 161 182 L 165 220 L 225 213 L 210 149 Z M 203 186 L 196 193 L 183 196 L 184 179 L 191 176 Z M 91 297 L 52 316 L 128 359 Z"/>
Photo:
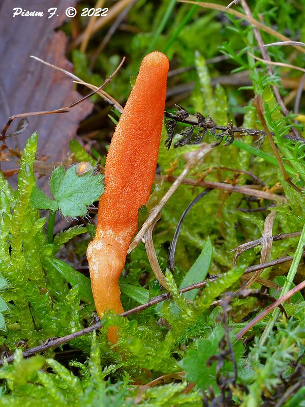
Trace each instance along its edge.
<path fill-rule="evenodd" d="M 64 216 L 85 216 L 87 206 L 99 199 L 104 191 L 103 176 L 93 176 L 93 169 L 79 177 L 75 166 L 67 171 L 59 166 L 54 169 L 50 188 Z"/>

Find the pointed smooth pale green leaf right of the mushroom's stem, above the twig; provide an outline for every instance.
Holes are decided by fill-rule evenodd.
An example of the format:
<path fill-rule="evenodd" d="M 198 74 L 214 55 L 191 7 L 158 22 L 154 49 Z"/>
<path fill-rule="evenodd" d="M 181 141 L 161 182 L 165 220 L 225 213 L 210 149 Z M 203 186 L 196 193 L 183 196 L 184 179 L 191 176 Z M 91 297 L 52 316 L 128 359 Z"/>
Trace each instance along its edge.
<path fill-rule="evenodd" d="M 209 238 L 206 239 L 205 245 L 195 260 L 195 263 L 190 268 L 188 273 L 186 274 L 185 278 L 181 281 L 179 288 L 185 288 L 188 285 L 192 285 L 195 283 L 199 283 L 203 281 L 207 275 L 209 270 L 210 264 L 212 260 L 212 245 Z M 192 289 L 187 293 L 184 293 L 184 296 L 193 301 L 198 293 L 198 289 Z"/>

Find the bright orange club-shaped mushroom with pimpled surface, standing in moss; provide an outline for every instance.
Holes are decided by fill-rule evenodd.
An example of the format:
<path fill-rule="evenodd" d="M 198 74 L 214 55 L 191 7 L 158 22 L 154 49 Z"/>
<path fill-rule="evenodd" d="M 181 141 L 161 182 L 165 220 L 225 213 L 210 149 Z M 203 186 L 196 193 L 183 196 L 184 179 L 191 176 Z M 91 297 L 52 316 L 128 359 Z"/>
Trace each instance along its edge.
<path fill-rule="evenodd" d="M 98 315 L 123 312 L 118 279 L 138 228 L 138 210 L 154 182 L 165 106 L 169 62 L 162 52 L 142 61 L 135 85 L 115 128 L 105 164 L 96 236 L 87 259 Z M 116 329 L 108 331 L 116 342 Z"/>

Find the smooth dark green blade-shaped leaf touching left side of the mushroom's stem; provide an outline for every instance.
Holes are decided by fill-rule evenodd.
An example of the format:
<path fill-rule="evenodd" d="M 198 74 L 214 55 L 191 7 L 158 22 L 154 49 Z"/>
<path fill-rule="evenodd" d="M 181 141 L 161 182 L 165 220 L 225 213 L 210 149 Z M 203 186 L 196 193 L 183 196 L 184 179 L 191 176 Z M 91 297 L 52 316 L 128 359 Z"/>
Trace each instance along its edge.
<path fill-rule="evenodd" d="M 55 257 L 45 258 L 43 260 L 43 264 L 46 269 L 52 268 L 61 274 L 68 281 L 68 283 L 72 285 L 72 287 L 79 284 L 78 289 L 80 294 L 83 295 L 87 300 L 93 302 L 91 282 L 88 277 L 74 270 L 73 267 Z"/>

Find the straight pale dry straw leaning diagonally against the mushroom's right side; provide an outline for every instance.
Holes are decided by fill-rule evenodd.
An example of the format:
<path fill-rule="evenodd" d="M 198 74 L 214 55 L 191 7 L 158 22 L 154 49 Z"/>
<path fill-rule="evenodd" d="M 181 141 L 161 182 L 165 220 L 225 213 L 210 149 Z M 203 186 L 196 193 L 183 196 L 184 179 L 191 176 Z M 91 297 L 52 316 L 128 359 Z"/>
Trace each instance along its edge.
<path fill-rule="evenodd" d="M 162 197 L 162 199 L 160 200 L 158 205 L 156 205 L 155 208 L 153 208 L 150 211 L 148 218 L 146 219 L 143 226 L 137 233 L 133 242 L 130 244 L 127 253 L 130 253 L 133 249 L 135 249 L 138 246 L 138 244 L 141 242 L 141 239 L 144 237 L 146 231 L 148 230 L 150 225 L 154 223 L 156 217 L 159 215 L 159 213 L 161 212 L 162 208 L 165 206 L 168 199 L 172 196 L 172 194 L 175 192 L 175 190 L 178 188 L 178 186 L 181 184 L 181 182 L 186 178 L 186 176 L 191 171 L 191 169 L 194 168 L 195 165 L 197 165 L 198 162 L 206 154 L 208 154 L 211 150 L 212 150 L 212 147 L 210 144 L 204 144 L 203 147 L 201 147 L 200 149 L 198 149 L 195 152 L 194 156 L 187 162 L 184 170 L 181 172 L 179 177 L 176 178 L 176 180 L 174 181 L 172 186 L 169 188 L 169 190 L 166 192 L 166 194 Z"/>

